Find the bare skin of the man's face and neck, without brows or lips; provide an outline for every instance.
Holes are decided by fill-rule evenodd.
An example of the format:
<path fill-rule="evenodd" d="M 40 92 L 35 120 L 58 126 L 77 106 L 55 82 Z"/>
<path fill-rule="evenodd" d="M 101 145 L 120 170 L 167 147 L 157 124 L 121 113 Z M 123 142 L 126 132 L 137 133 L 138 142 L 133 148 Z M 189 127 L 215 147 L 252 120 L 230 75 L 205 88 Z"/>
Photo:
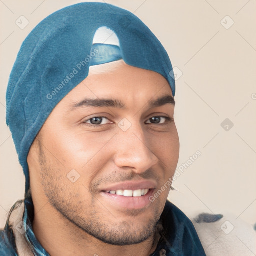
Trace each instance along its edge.
<path fill-rule="evenodd" d="M 162 75 L 119 60 L 90 67 L 48 116 L 27 162 L 33 230 L 51 256 L 149 255 L 156 249 L 155 228 L 170 187 L 144 208 L 128 210 L 106 202 L 100 188 L 146 179 L 157 191 L 173 176 L 179 156 L 174 120 L 150 118 L 173 119 L 174 104 L 148 106 L 162 95 L 172 96 Z M 85 96 L 117 98 L 126 109 L 72 107 Z M 91 119 L 102 115 L 107 118 Z M 131 124 L 126 131 L 118 126 L 123 118 Z M 67 178 L 73 169 L 80 175 L 74 183 Z"/>

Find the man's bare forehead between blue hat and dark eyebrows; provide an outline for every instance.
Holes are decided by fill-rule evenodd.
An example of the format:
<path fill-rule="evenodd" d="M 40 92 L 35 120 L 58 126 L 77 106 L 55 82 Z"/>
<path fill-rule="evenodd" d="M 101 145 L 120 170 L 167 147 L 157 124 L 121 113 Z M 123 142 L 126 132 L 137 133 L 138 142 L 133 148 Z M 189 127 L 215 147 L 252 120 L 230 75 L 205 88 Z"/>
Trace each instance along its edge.
<path fill-rule="evenodd" d="M 159 73 L 133 67 L 123 60 L 91 66 L 88 76 L 63 99 L 73 106 L 84 97 L 119 98 L 122 102 L 146 102 L 160 95 L 170 95 L 168 81 Z"/>

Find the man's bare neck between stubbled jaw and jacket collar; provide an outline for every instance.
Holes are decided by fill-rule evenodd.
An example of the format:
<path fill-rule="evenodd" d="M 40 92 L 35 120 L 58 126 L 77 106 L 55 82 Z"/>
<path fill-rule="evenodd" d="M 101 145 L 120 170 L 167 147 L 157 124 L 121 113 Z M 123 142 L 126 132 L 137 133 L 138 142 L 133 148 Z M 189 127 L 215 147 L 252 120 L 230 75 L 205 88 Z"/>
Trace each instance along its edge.
<path fill-rule="evenodd" d="M 44 205 L 44 206 L 43 206 Z M 154 233 L 147 240 L 132 245 L 104 243 L 63 217 L 47 201 L 34 204 L 33 231 L 51 256 L 138 255 L 148 256 L 157 247 L 159 236 Z"/>

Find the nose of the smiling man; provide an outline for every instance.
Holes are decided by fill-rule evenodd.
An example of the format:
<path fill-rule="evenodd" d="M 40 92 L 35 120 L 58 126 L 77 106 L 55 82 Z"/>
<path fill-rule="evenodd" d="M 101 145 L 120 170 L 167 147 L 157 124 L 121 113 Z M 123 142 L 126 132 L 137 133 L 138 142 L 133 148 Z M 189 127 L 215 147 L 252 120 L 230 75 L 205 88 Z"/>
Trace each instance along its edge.
<path fill-rule="evenodd" d="M 129 167 L 135 173 L 142 173 L 158 162 L 150 148 L 150 141 L 145 137 L 140 125 L 132 125 L 127 131 L 120 130 L 115 136 L 116 166 Z"/>

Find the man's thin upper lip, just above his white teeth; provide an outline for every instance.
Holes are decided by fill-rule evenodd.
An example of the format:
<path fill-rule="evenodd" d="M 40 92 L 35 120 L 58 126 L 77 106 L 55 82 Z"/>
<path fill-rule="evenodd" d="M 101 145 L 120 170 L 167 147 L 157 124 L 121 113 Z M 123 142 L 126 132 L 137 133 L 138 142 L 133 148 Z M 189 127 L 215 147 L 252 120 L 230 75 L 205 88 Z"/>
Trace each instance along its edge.
<path fill-rule="evenodd" d="M 140 181 L 125 181 L 120 183 L 115 183 L 103 187 L 101 191 L 111 191 L 111 190 L 137 190 L 137 189 L 152 189 L 156 187 L 156 183 L 153 180 L 140 180 Z"/>

